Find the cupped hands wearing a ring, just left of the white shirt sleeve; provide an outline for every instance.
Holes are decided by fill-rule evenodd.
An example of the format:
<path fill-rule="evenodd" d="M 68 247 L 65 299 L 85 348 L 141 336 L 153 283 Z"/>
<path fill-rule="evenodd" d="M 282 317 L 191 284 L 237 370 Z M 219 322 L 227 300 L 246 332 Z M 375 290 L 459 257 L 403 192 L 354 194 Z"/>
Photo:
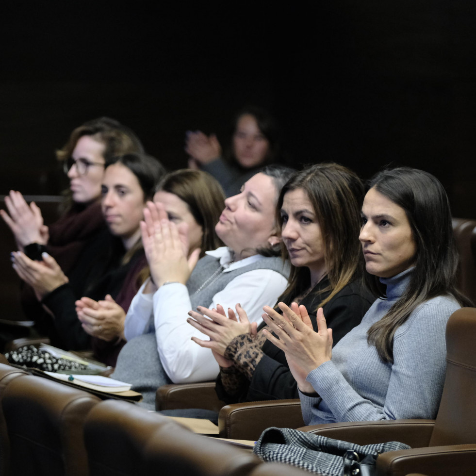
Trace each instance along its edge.
<path fill-rule="evenodd" d="M 75 304 L 82 328 L 89 335 L 103 341 L 124 338 L 126 313 L 111 295 L 108 294 L 103 301 L 82 297 Z"/>

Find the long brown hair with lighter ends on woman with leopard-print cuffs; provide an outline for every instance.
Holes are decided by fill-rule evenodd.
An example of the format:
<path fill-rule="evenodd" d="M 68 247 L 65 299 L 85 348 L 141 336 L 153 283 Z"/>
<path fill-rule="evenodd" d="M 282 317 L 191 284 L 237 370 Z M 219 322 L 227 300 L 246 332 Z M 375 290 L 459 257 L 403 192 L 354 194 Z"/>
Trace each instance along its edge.
<path fill-rule="evenodd" d="M 305 168 L 281 190 L 277 206 L 281 227 L 284 195 L 297 189 L 303 190 L 311 201 L 324 243 L 329 287 L 319 292 L 330 291 L 330 294 L 315 309 L 308 310 L 316 312 L 361 273 L 363 260 L 358 236 L 364 187 L 359 177 L 343 165 L 315 164 Z M 287 256 L 284 244 L 282 246 Z M 310 286 L 309 269 L 291 265 L 289 285 L 279 300 L 289 303 Z"/>

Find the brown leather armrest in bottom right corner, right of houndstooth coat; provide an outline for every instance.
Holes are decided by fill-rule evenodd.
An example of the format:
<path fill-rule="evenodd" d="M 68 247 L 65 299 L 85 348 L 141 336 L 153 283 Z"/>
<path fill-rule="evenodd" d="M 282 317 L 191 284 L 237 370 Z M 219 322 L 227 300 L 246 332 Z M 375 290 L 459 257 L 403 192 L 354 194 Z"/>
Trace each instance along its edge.
<path fill-rule="evenodd" d="M 476 444 L 455 444 L 389 451 L 377 458 L 378 475 L 422 473 L 432 476 L 474 473 Z"/>

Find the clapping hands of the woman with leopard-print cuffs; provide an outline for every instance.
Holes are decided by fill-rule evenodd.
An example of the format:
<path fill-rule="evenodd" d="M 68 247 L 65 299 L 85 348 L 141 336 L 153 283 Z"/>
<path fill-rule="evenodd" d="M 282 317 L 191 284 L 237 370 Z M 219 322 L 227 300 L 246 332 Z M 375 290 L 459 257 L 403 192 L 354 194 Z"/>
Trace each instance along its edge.
<path fill-rule="evenodd" d="M 225 350 L 230 342 L 239 335 L 250 333 L 256 335 L 257 323 L 250 323 L 245 310 L 240 304 L 236 305 L 236 313 L 228 308 L 228 317 L 225 310 L 219 304 L 216 306 L 216 310 L 207 309 L 202 306 L 198 306 L 198 311 L 190 311 L 188 314 L 191 316 L 187 319 L 187 322 L 194 328 L 198 329 L 205 335 L 210 337 L 209 341 L 192 337 L 192 340 L 201 347 L 207 347 L 212 349 L 217 354 L 223 356 Z"/>

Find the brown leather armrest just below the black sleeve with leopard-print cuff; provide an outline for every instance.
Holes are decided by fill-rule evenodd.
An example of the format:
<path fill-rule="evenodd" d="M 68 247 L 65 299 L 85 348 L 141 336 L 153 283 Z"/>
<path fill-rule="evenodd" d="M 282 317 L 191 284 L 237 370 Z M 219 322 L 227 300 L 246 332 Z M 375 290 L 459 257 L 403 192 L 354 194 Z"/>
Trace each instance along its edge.
<path fill-rule="evenodd" d="M 234 403 L 223 407 L 218 415 L 220 437 L 234 440 L 257 440 L 266 428 L 297 428 L 302 424 L 297 398 Z"/>

